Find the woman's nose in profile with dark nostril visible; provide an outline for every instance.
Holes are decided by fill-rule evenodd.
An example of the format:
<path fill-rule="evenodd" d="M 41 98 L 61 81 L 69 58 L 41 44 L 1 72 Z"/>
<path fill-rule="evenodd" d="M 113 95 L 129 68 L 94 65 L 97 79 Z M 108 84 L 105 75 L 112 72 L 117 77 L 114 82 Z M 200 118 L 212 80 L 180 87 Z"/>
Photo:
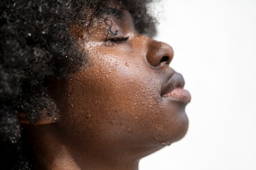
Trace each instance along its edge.
<path fill-rule="evenodd" d="M 173 59 L 173 48 L 164 42 L 148 40 L 146 60 L 153 67 L 169 65 Z"/>

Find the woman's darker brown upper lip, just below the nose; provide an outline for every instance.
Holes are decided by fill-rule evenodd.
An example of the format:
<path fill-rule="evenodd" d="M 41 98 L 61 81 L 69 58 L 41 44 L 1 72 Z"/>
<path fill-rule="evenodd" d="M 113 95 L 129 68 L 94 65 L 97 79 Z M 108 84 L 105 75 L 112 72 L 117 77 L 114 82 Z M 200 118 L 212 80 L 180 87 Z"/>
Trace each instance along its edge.
<path fill-rule="evenodd" d="M 162 85 L 161 96 L 170 93 L 175 88 L 183 88 L 185 85 L 183 76 L 176 72 L 166 81 L 167 82 Z"/>

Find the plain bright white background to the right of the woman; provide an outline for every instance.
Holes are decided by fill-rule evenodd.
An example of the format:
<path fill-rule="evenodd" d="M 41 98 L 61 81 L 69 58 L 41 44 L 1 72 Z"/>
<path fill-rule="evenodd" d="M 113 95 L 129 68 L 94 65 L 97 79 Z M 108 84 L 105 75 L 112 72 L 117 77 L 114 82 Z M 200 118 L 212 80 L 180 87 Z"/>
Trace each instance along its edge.
<path fill-rule="evenodd" d="M 163 0 L 157 40 L 174 49 L 189 130 L 139 170 L 256 170 L 256 0 Z"/>

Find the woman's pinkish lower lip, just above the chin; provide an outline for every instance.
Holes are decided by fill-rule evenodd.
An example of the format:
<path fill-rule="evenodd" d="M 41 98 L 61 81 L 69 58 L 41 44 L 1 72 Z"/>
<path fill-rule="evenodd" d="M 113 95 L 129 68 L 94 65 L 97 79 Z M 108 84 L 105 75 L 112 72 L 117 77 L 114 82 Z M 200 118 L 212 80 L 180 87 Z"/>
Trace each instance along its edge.
<path fill-rule="evenodd" d="M 175 88 L 168 94 L 164 94 L 163 97 L 175 98 L 177 101 L 189 103 L 191 100 L 190 93 L 182 88 Z"/>

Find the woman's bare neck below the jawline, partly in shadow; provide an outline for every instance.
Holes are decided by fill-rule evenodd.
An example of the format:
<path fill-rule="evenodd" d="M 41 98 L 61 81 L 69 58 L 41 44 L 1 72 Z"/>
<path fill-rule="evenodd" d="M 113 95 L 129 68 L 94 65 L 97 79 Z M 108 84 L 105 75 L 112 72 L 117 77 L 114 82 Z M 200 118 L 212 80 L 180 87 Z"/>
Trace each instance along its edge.
<path fill-rule="evenodd" d="M 28 145 L 36 170 L 138 170 L 139 158 L 129 152 L 103 150 L 90 143 L 88 147 L 79 147 L 54 131 L 42 130 L 50 128 L 48 125 L 28 126 Z"/>

